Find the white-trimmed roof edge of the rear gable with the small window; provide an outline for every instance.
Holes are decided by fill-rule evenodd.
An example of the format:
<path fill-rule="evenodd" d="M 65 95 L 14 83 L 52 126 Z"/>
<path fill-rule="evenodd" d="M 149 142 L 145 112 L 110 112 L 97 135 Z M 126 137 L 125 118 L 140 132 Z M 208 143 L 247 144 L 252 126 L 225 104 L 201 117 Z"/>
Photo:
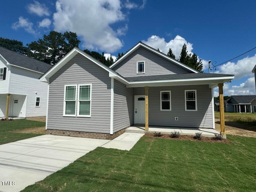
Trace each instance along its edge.
<path fill-rule="evenodd" d="M 158 54 L 159 56 L 173 62 L 174 64 L 182 67 L 182 68 L 185 68 L 187 70 L 189 70 L 190 72 L 193 72 L 193 73 L 199 73 L 199 71 L 193 69 L 193 68 L 190 68 L 189 66 L 175 60 L 174 58 L 171 58 L 169 56 L 167 56 L 166 54 L 142 43 L 142 42 L 138 42 L 138 44 L 136 44 L 133 48 L 131 48 L 128 52 L 126 52 L 126 54 L 124 54 L 120 59 L 118 59 L 116 62 L 114 62 L 109 68 L 114 68 L 116 65 L 118 65 L 120 62 L 122 62 L 122 60 L 124 60 L 126 57 L 128 57 L 130 54 L 132 54 L 135 50 L 137 50 L 138 48 L 140 47 L 143 47 L 143 48 L 146 48 L 147 50 L 150 50 L 151 52 L 154 52 L 155 54 Z"/>

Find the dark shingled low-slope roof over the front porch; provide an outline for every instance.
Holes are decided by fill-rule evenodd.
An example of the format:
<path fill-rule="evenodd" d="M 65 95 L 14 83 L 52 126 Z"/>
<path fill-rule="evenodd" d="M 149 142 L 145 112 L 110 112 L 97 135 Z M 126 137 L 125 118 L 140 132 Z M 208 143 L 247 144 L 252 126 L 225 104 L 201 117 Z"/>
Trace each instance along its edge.
<path fill-rule="evenodd" d="M 154 76 L 139 76 L 126 77 L 130 82 L 140 81 L 157 81 L 157 80 L 179 80 L 190 78 L 212 78 L 212 77 L 233 77 L 230 74 L 215 74 L 215 73 L 184 73 L 184 74 L 170 74 L 170 75 L 154 75 Z"/>

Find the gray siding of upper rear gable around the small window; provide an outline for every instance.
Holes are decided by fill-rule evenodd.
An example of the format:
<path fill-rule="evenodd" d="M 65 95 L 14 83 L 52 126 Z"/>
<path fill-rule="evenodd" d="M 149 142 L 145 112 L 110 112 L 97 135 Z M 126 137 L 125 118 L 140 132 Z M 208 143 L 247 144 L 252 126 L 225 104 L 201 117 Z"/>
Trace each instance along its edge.
<path fill-rule="evenodd" d="M 141 61 L 145 62 L 145 73 L 137 74 L 137 62 Z M 191 71 L 142 47 L 112 69 L 124 77 L 191 73 Z"/>

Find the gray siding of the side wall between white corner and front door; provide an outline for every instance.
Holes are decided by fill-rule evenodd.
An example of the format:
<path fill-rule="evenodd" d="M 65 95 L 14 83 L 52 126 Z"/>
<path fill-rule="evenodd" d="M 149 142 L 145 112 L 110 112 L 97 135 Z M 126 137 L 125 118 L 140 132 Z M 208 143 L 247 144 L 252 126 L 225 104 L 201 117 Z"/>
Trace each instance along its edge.
<path fill-rule="evenodd" d="M 114 132 L 134 124 L 133 88 L 114 81 Z"/>

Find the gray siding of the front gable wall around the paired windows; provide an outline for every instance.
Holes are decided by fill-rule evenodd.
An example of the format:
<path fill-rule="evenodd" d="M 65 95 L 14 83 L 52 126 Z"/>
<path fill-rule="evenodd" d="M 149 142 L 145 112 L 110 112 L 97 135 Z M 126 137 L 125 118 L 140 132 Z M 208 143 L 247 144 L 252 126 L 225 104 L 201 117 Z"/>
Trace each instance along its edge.
<path fill-rule="evenodd" d="M 63 116 L 64 85 L 92 84 L 91 117 Z M 111 79 L 78 54 L 50 78 L 48 129 L 110 133 Z"/>

